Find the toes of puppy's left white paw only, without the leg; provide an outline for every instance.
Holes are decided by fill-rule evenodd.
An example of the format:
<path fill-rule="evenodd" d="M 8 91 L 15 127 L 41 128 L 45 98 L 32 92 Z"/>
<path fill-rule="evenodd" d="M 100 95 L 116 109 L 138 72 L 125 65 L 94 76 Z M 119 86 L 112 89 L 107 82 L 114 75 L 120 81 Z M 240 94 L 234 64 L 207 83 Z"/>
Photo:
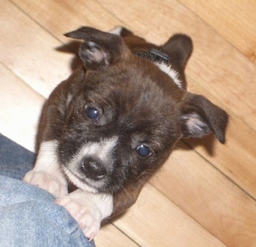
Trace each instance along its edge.
<path fill-rule="evenodd" d="M 31 170 L 26 173 L 23 180 L 38 186 L 53 194 L 54 197 L 63 197 L 67 194 L 67 183 L 42 170 Z"/>

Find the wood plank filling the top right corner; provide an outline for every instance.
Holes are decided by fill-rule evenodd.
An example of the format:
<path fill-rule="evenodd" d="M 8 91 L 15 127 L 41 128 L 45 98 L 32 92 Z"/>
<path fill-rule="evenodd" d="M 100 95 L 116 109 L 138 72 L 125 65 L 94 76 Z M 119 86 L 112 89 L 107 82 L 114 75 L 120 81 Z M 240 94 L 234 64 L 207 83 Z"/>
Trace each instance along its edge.
<path fill-rule="evenodd" d="M 241 53 L 256 62 L 256 1 L 180 1 Z"/>

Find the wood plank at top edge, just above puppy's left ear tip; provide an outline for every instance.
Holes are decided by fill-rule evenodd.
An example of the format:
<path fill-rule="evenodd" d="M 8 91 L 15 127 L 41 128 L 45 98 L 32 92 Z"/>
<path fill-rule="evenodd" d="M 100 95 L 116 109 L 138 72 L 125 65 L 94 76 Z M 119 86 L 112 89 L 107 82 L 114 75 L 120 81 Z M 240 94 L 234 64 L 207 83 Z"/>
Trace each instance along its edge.
<path fill-rule="evenodd" d="M 122 23 L 95 0 L 36 2 L 13 0 L 13 2 L 62 42 L 69 40 L 64 37 L 64 33 L 80 26 L 94 26 L 102 30 L 109 30 Z"/>

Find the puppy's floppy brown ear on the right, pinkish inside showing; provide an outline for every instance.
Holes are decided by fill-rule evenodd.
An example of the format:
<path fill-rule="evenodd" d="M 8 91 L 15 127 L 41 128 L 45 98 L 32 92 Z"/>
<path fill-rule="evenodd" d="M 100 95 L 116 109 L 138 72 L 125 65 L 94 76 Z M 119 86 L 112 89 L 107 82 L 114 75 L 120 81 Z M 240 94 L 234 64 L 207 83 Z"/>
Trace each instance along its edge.
<path fill-rule="evenodd" d="M 204 96 L 187 93 L 181 102 L 181 132 L 183 137 L 204 137 L 214 133 L 225 143 L 227 113 Z"/>

